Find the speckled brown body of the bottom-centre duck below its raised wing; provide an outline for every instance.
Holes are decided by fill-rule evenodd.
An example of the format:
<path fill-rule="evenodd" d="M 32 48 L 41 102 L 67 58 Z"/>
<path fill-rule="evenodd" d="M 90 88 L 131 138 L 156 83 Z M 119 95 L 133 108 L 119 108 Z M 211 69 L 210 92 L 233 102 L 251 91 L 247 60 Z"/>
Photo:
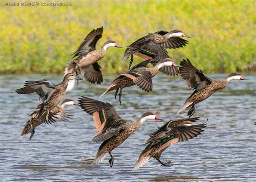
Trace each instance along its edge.
<path fill-rule="evenodd" d="M 126 129 L 120 132 L 118 135 L 113 136 L 109 142 L 105 144 L 102 148 L 102 151 L 109 152 L 113 149 L 117 148 L 120 144 L 122 144 L 134 131 L 138 130 L 140 125 L 133 121 L 127 121 L 125 123 Z"/>

